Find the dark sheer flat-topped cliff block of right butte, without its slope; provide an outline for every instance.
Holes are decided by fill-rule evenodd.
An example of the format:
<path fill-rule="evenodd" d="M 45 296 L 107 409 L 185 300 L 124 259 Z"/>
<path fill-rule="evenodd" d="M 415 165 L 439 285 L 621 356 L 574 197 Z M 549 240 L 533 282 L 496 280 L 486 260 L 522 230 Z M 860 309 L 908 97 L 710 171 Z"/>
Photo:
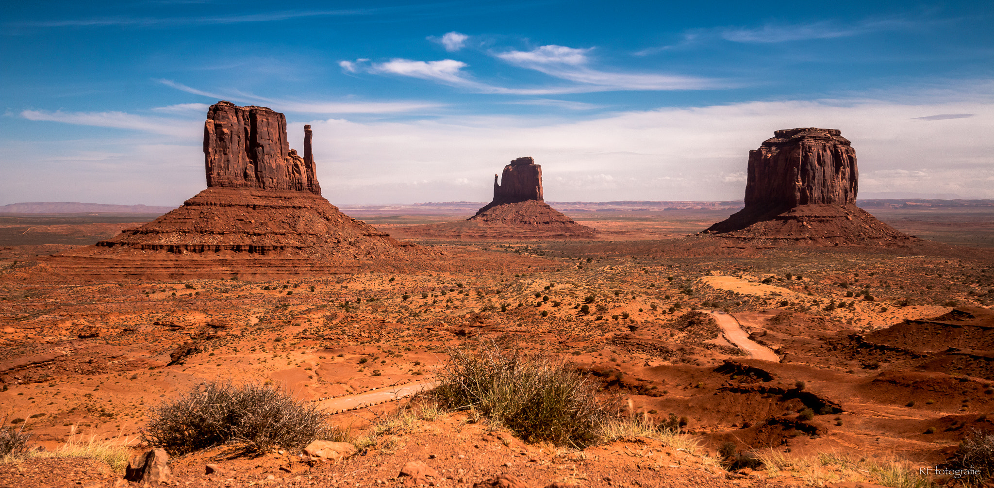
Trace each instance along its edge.
<path fill-rule="evenodd" d="M 748 153 L 745 208 L 856 203 L 856 150 L 838 129 L 773 132 Z"/>

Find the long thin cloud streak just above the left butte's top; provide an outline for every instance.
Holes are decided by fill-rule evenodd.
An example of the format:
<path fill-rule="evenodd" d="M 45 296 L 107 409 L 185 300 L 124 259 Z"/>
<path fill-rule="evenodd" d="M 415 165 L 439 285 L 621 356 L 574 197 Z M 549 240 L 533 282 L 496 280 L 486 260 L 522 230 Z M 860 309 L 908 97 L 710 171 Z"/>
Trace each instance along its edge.
<path fill-rule="evenodd" d="M 326 100 L 290 100 L 282 98 L 270 98 L 258 96 L 251 93 L 244 93 L 238 89 L 233 89 L 227 94 L 219 94 L 202 89 L 197 89 L 186 84 L 171 80 L 155 80 L 167 86 L 174 87 L 188 93 L 208 96 L 219 100 L 234 100 L 241 103 L 265 103 L 270 108 L 297 112 L 297 113 L 397 113 L 436 108 L 443 106 L 441 103 L 429 101 L 326 101 Z M 207 105 L 204 105 L 205 109 Z"/>

